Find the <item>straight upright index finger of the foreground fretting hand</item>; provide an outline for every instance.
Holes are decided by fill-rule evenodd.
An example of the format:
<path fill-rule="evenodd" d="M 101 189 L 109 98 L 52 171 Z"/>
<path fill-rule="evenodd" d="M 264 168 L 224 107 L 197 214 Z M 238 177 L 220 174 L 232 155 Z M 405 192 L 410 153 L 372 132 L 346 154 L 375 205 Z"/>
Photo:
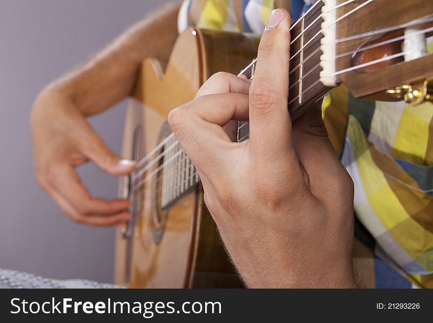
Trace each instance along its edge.
<path fill-rule="evenodd" d="M 287 110 L 290 22 L 284 9 L 271 13 L 260 40 L 249 89 L 249 144 L 264 157 L 293 150 Z"/>

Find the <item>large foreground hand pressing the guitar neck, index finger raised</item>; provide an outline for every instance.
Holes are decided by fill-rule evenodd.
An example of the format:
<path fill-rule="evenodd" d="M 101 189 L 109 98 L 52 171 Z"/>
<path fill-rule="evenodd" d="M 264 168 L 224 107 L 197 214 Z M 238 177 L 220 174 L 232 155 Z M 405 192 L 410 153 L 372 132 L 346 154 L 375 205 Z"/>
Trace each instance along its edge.
<path fill-rule="evenodd" d="M 216 74 L 169 123 L 248 287 L 356 287 L 353 182 L 318 107 L 290 120 L 289 27 L 288 12 L 274 11 L 252 83 Z M 247 141 L 230 140 L 230 120 L 249 120 Z"/>

